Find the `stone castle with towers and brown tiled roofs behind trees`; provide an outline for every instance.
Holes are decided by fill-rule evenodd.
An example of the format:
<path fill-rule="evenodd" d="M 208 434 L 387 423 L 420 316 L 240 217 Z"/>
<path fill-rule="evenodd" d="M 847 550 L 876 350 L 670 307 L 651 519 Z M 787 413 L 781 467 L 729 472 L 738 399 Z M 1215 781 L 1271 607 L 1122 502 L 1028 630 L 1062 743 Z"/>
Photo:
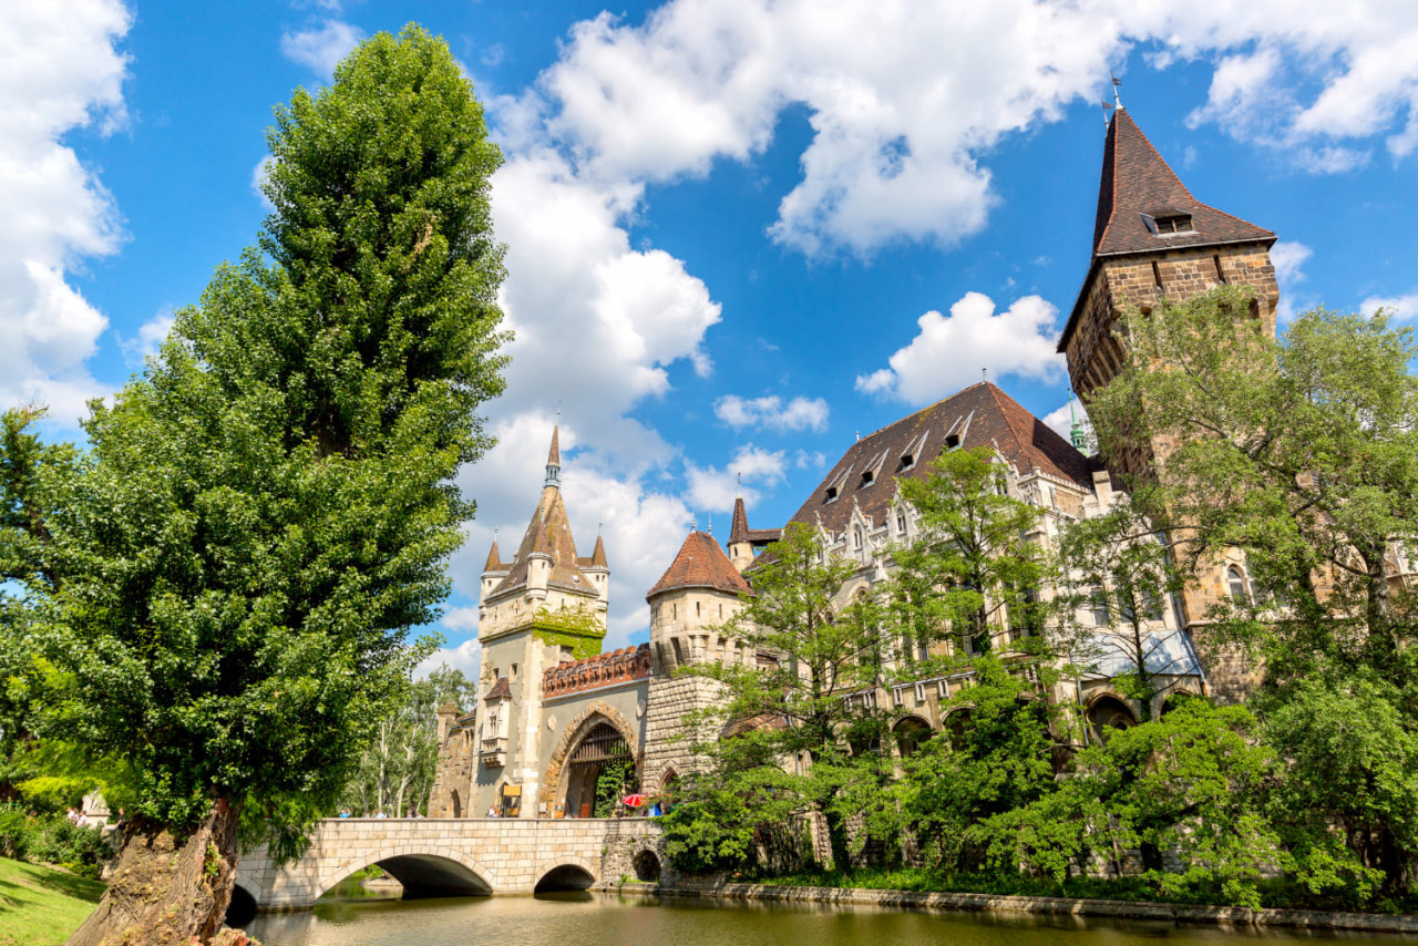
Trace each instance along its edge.
<path fill-rule="evenodd" d="M 1117 374 L 1123 353 L 1113 322 L 1122 311 L 1146 311 L 1163 296 L 1246 285 L 1254 289 L 1255 315 L 1273 333 L 1275 238 L 1193 197 L 1117 108 L 1107 126 L 1088 275 L 1059 339 L 1073 390 L 1086 403 Z M 885 580 L 891 547 L 915 538 L 916 513 L 899 498 L 896 479 L 923 477 L 942 452 L 973 447 L 993 450 L 1010 495 L 1038 508 L 1031 539 L 1044 546 L 1068 522 L 1113 508 L 1119 501 L 1113 477 L 1146 472 L 1167 450 L 1166 443 L 1134 444 L 1105 469 L 1081 451 L 1081 437 L 1064 440 L 997 386 L 967 387 L 858 440 L 793 515 L 791 522 L 820 529 L 830 555 L 855 564 L 834 604 L 845 606 Z M 488 555 L 478 625 L 479 706 L 465 712 L 450 703 L 438 713 L 438 773 L 428 816 L 590 817 L 597 779 L 608 766 L 634 769 L 632 781 L 648 794 L 693 767 L 692 740 L 678 736 L 685 735 L 686 713 L 713 706 L 716 684 L 675 671 L 702 661 L 773 660 L 736 650 L 715 628 L 739 611 L 742 596 L 752 594 L 744 573 L 757 552 L 781 535 L 781 528 L 750 529 L 742 499 L 727 550 L 692 530 L 647 594 L 649 642 L 603 654 L 610 566 L 600 539 L 590 557 L 577 556 L 553 431 L 542 496 L 520 546 L 509 562 L 495 542 Z M 1163 694 L 1242 695 L 1254 685 L 1244 661 L 1198 655 L 1190 631 L 1211 603 L 1249 593 L 1245 562 L 1238 553 L 1221 556 L 1195 577 L 1149 621 L 1147 668 L 1164 681 Z M 1058 696 L 1082 702 L 1096 736 L 1141 719 L 1146 711 L 1160 712 L 1161 694 L 1157 706 L 1143 708 L 1113 689 L 1113 675 L 1126 668 L 1106 658 L 1119 634 L 1106 613 L 1075 617 L 1095 624 L 1105 658 L 1096 672 L 1069 681 L 1069 692 Z M 1001 633 L 1010 634 L 1007 618 Z M 895 742 L 905 750 L 946 726 L 942 705 L 966 684 L 956 677 L 919 679 L 872 696 L 899 713 Z"/>

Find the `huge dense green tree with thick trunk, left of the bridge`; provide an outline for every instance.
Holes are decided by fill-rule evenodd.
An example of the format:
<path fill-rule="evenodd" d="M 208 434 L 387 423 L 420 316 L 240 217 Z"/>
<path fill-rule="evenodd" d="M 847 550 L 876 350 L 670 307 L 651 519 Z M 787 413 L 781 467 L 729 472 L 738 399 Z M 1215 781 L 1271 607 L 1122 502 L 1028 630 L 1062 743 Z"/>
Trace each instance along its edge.
<path fill-rule="evenodd" d="M 431 642 L 502 390 L 499 152 L 447 45 L 362 44 L 277 109 L 250 251 L 52 464 L 18 523 L 55 686 L 33 716 L 133 779 L 118 881 L 74 943 L 206 942 L 247 828 L 289 852 Z M 145 939 L 143 942 L 149 942 Z"/>

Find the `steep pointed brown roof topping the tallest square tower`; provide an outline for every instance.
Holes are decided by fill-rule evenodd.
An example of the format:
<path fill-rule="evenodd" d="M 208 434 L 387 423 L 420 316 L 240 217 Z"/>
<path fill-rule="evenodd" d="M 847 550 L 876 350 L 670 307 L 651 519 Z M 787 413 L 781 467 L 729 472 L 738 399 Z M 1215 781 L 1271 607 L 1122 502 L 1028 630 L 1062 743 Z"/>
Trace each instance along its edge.
<path fill-rule="evenodd" d="M 1191 230 L 1154 234 L 1143 214 L 1191 216 Z M 1173 247 L 1275 241 L 1269 230 L 1210 207 L 1187 190 L 1126 109 L 1117 109 L 1103 146 L 1093 255 L 1156 252 Z"/>

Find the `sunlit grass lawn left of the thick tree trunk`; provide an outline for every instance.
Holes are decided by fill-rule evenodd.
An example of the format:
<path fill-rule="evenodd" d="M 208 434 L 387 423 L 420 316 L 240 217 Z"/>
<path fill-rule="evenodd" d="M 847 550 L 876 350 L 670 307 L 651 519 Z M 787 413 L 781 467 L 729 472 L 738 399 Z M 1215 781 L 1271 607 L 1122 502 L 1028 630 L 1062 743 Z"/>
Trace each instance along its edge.
<path fill-rule="evenodd" d="M 94 912 L 104 885 L 0 857 L 0 946 L 55 946 Z"/>

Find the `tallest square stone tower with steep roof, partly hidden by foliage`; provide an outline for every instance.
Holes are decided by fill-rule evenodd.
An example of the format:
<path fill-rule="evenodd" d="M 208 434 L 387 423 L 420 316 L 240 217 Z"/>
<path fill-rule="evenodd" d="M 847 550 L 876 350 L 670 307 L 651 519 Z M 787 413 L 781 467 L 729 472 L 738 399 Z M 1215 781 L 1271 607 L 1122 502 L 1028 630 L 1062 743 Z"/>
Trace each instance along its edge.
<path fill-rule="evenodd" d="M 1088 278 L 1073 304 L 1058 350 L 1068 359 L 1069 380 L 1088 404 L 1123 366 L 1122 342 L 1113 333 L 1117 316 L 1133 306 L 1147 312 L 1160 299 L 1180 299 L 1217 285 L 1255 291 L 1252 312 L 1275 333 L 1279 288 L 1269 250 L 1275 234 L 1210 207 L 1187 190 L 1127 111 L 1119 106 L 1107 125 L 1103 172 L 1093 224 Z M 1161 440 L 1136 443 L 1110 458 L 1115 475 L 1151 475 Z M 1236 556 L 1231 556 L 1236 557 Z M 1181 607 L 1191 631 L 1207 608 L 1227 593 L 1227 570 L 1244 567 L 1218 560 L 1197 574 Z M 1251 674 L 1234 655 L 1208 660 L 1211 685 L 1234 696 L 1251 685 Z"/>

